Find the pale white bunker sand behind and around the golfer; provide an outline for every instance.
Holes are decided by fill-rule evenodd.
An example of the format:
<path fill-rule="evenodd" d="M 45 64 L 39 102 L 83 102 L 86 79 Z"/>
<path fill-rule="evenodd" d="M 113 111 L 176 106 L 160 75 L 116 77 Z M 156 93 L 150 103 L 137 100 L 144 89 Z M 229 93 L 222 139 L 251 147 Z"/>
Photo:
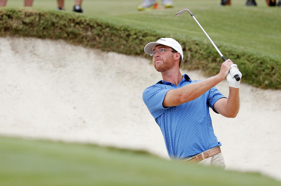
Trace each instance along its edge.
<path fill-rule="evenodd" d="M 169 158 L 142 101 L 161 80 L 150 60 L 62 40 L 0 38 L 0 134 L 144 149 Z M 219 67 L 218 67 L 219 68 Z M 207 77 L 181 70 L 193 80 Z M 217 85 L 228 96 L 225 80 Z M 240 85 L 235 119 L 211 111 L 227 169 L 281 180 L 281 91 Z"/>

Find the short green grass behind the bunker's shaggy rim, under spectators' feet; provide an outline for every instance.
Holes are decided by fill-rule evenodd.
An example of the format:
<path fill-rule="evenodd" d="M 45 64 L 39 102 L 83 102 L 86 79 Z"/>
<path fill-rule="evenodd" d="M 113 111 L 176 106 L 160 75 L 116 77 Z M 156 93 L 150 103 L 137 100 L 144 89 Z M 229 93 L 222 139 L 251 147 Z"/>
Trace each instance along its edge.
<path fill-rule="evenodd" d="M 232 47 L 238 52 L 239 49 L 246 50 L 280 60 L 281 8 L 268 7 L 263 0 L 256 0 L 257 7 L 245 6 L 246 0 L 235 0 L 231 6 L 219 6 L 220 0 L 174 0 L 173 9 L 140 12 L 136 8 L 141 2 L 142 0 L 84 0 L 82 8 L 85 15 L 152 30 L 159 33 L 159 37 L 172 33 L 182 38 L 191 37 L 209 42 L 188 13 L 174 16 L 181 9 L 188 8 L 216 44 Z M 67 12 L 72 10 L 73 4 L 74 0 L 65 1 Z M 23 6 L 23 0 L 7 2 L 7 7 L 16 6 Z M 34 8 L 55 9 L 56 6 L 56 1 L 49 0 L 35 0 L 33 3 Z M 211 43 L 210 47 L 213 47 Z M 224 48 L 219 49 L 224 54 Z"/>

